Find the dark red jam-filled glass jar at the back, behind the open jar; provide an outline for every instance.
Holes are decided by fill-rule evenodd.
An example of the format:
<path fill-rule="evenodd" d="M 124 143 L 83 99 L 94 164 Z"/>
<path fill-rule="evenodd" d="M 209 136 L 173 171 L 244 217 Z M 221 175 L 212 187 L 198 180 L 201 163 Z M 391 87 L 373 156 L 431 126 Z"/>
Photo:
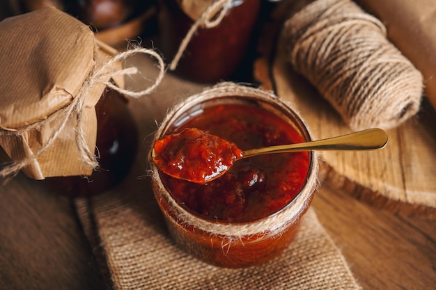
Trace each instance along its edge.
<path fill-rule="evenodd" d="M 185 79 L 214 83 L 228 79 L 247 51 L 260 8 L 260 0 L 232 1 L 221 23 L 199 28 L 178 62 L 176 74 Z M 182 39 L 194 24 L 176 0 L 163 0 L 159 13 L 159 36 L 166 58 L 176 55 Z"/>

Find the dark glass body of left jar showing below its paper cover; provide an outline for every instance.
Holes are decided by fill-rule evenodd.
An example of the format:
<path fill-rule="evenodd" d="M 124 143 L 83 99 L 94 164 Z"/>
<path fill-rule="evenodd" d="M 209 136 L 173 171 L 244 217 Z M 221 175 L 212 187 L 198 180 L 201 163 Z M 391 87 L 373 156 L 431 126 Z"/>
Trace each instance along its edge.
<path fill-rule="evenodd" d="M 137 152 L 137 127 L 127 99 L 105 90 L 95 105 L 99 169 L 89 177 L 47 177 L 51 188 L 69 197 L 95 195 L 119 184 L 129 172 Z"/>

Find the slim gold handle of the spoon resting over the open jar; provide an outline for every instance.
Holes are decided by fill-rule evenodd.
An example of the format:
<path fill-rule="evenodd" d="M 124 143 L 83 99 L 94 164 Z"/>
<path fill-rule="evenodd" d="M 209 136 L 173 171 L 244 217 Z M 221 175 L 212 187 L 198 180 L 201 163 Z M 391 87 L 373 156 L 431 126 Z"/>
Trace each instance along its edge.
<path fill-rule="evenodd" d="M 246 150 L 242 158 L 258 154 L 311 150 L 374 150 L 386 146 L 387 139 L 384 130 L 373 128 L 322 140 Z"/>

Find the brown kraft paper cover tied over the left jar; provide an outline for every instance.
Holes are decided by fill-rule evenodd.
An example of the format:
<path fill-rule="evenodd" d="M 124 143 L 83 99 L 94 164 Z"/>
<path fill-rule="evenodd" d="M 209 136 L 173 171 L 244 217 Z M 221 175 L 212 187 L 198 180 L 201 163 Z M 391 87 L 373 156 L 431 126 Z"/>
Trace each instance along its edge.
<path fill-rule="evenodd" d="M 23 172 L 34 179 L 91 175 L 93 168 L 84 163 L 74 137 L 77 112 L 47 118 L 72 102 L 94 69 L 96 56 L 109 57 L 104 52 L 108 48 L 96 49 L 91 29 L 56 8 L 4 19 L 0 31 L 1 147 L 13 161 L 22 161 L 59 131 L 54 143 L 26 163 Z M 104 88 L 102 83 L 91 86 L 79 112 L 91 152 L 97 134 L 95 104 Z M 23 129 L 36 122 L 40 124 L 35 128 Z"/>

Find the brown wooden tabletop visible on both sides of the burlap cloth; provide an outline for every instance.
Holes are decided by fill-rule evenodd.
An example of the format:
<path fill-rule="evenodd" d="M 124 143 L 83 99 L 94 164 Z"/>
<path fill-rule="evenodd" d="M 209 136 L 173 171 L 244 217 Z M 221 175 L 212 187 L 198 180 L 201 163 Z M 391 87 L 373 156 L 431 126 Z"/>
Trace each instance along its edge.
<path fill-rule="evenodd" d="M 435 220 L 391 214 L 325 183 L 313 208 L 363 289 L 436 289 Z M 0 185 L 0 289 L 107 289 L 71 200 L 22 174 Z"/>

